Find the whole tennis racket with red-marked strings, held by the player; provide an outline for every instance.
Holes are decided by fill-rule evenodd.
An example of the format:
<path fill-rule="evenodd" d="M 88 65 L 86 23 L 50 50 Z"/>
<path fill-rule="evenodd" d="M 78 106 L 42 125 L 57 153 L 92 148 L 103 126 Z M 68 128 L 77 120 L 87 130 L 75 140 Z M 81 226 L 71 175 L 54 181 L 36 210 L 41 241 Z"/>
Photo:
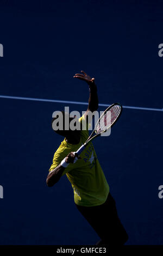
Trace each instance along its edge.
<path fill-rule="evenodd" d="M 106 108 L 101 117 L 98 119 L 95 129 L 92 131 L 90 137 L 87 138 L 86 142 L 76 151 L 76 153 L 80 155 L 86 148 L 87 144 L 111 128 L 116 123 L 118 118 L 120 118 L 121 113 L 122 105 L 120 103 L 114 103 L 110 107 Z"/>

